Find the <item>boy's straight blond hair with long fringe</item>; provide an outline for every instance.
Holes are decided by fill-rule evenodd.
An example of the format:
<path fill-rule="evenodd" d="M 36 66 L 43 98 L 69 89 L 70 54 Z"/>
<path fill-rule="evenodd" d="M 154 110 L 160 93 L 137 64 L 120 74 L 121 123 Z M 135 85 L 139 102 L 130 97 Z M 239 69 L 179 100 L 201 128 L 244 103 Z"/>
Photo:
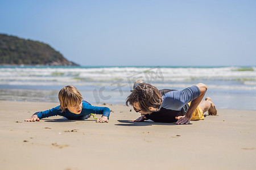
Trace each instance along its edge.
<path fill-rule="evenodd" d="M 66 86 L 59 92 L 60 109 L 65 112 L 69 106 L 75 106 L 82 101 L 82 95 L 76 87 Z"/>

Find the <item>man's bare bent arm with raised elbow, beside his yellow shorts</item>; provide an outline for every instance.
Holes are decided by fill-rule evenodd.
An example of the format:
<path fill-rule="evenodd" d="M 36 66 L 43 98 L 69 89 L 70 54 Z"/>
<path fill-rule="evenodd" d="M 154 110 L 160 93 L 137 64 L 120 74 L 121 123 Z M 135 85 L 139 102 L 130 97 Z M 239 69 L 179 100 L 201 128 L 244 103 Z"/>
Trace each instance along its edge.
<path fill-rule="evenodd" d="M 207 86 L 203 83 L 196 84 L 196 86 L 199 88 L 200 95 L 196 99 L 191 101 L 191 105 L 188 108 L 188 111 L 184 117 L 180 117 L 180 118 L 176 117 L 176 119 L 179 119 L 179 120 L 177 120 L 176 124 L 179 124 L 179 125 L 189 124 L 197 106 L 199 105 L 201 100 L 204 98 L 204 95 L 207 92 Z"/>

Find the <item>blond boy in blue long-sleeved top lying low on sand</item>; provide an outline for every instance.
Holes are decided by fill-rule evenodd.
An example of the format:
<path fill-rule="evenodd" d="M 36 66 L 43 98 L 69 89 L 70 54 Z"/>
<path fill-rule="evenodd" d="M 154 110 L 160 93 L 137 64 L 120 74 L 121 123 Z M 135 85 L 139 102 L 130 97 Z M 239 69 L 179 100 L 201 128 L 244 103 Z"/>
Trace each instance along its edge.
<path fill-rule="evenodd" d="M 40 121 L 41 118 L 50 116 L 64 116 L 69 120 L 84 120 L 90 117 L 90 113 L 102 114 L 96 122 L 108 122 L 110 109 L 107 107 L 95 107 L 82 100 L 82 95 L 76 87 L 66 86 L 59 92 L 60 105 L 43 112 L 36 112 L 25 121 Z"/>

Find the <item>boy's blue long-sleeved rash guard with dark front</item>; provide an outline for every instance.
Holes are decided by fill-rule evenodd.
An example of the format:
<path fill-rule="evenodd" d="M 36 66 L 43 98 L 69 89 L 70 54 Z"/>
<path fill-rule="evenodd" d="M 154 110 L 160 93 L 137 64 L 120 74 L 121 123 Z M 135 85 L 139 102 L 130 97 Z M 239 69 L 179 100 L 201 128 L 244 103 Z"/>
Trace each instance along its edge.
<path fill-rule="evenodd" d="M 102 116 L 106 116 L 109 118 L 110 109 L 107 107 L 96 107 L 90 105 L 86 101 L 82 101 L 82 111 L 80 114 L 72 113 L 68 109 L 66 109 L 65 112 L 61 112 L 60 105 L 47 111 L 37 112 L 35 114 L 38 116 L 39 119 L 59 115 L 64 116 L 70 120 L 81 120 L 85 119 L 85 117 L 88 116 L 88 114 L 90 113 L 102 114 Z"/>

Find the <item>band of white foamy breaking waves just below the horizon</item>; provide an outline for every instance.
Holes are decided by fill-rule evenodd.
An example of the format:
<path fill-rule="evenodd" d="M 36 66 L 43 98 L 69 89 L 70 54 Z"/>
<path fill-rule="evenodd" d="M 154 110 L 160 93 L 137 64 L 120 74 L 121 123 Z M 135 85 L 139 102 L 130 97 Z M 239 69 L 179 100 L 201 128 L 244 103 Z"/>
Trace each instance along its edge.
<path fill-rule="evenodd" d="M 208 82 L 216 89 L 255 90 L 256 69 L 240 67 L 0 67 L 0 84 L 113 86 L 143 79 L 160 87 Z M 156 85 L 155 85 L 156 86 Z"/>

